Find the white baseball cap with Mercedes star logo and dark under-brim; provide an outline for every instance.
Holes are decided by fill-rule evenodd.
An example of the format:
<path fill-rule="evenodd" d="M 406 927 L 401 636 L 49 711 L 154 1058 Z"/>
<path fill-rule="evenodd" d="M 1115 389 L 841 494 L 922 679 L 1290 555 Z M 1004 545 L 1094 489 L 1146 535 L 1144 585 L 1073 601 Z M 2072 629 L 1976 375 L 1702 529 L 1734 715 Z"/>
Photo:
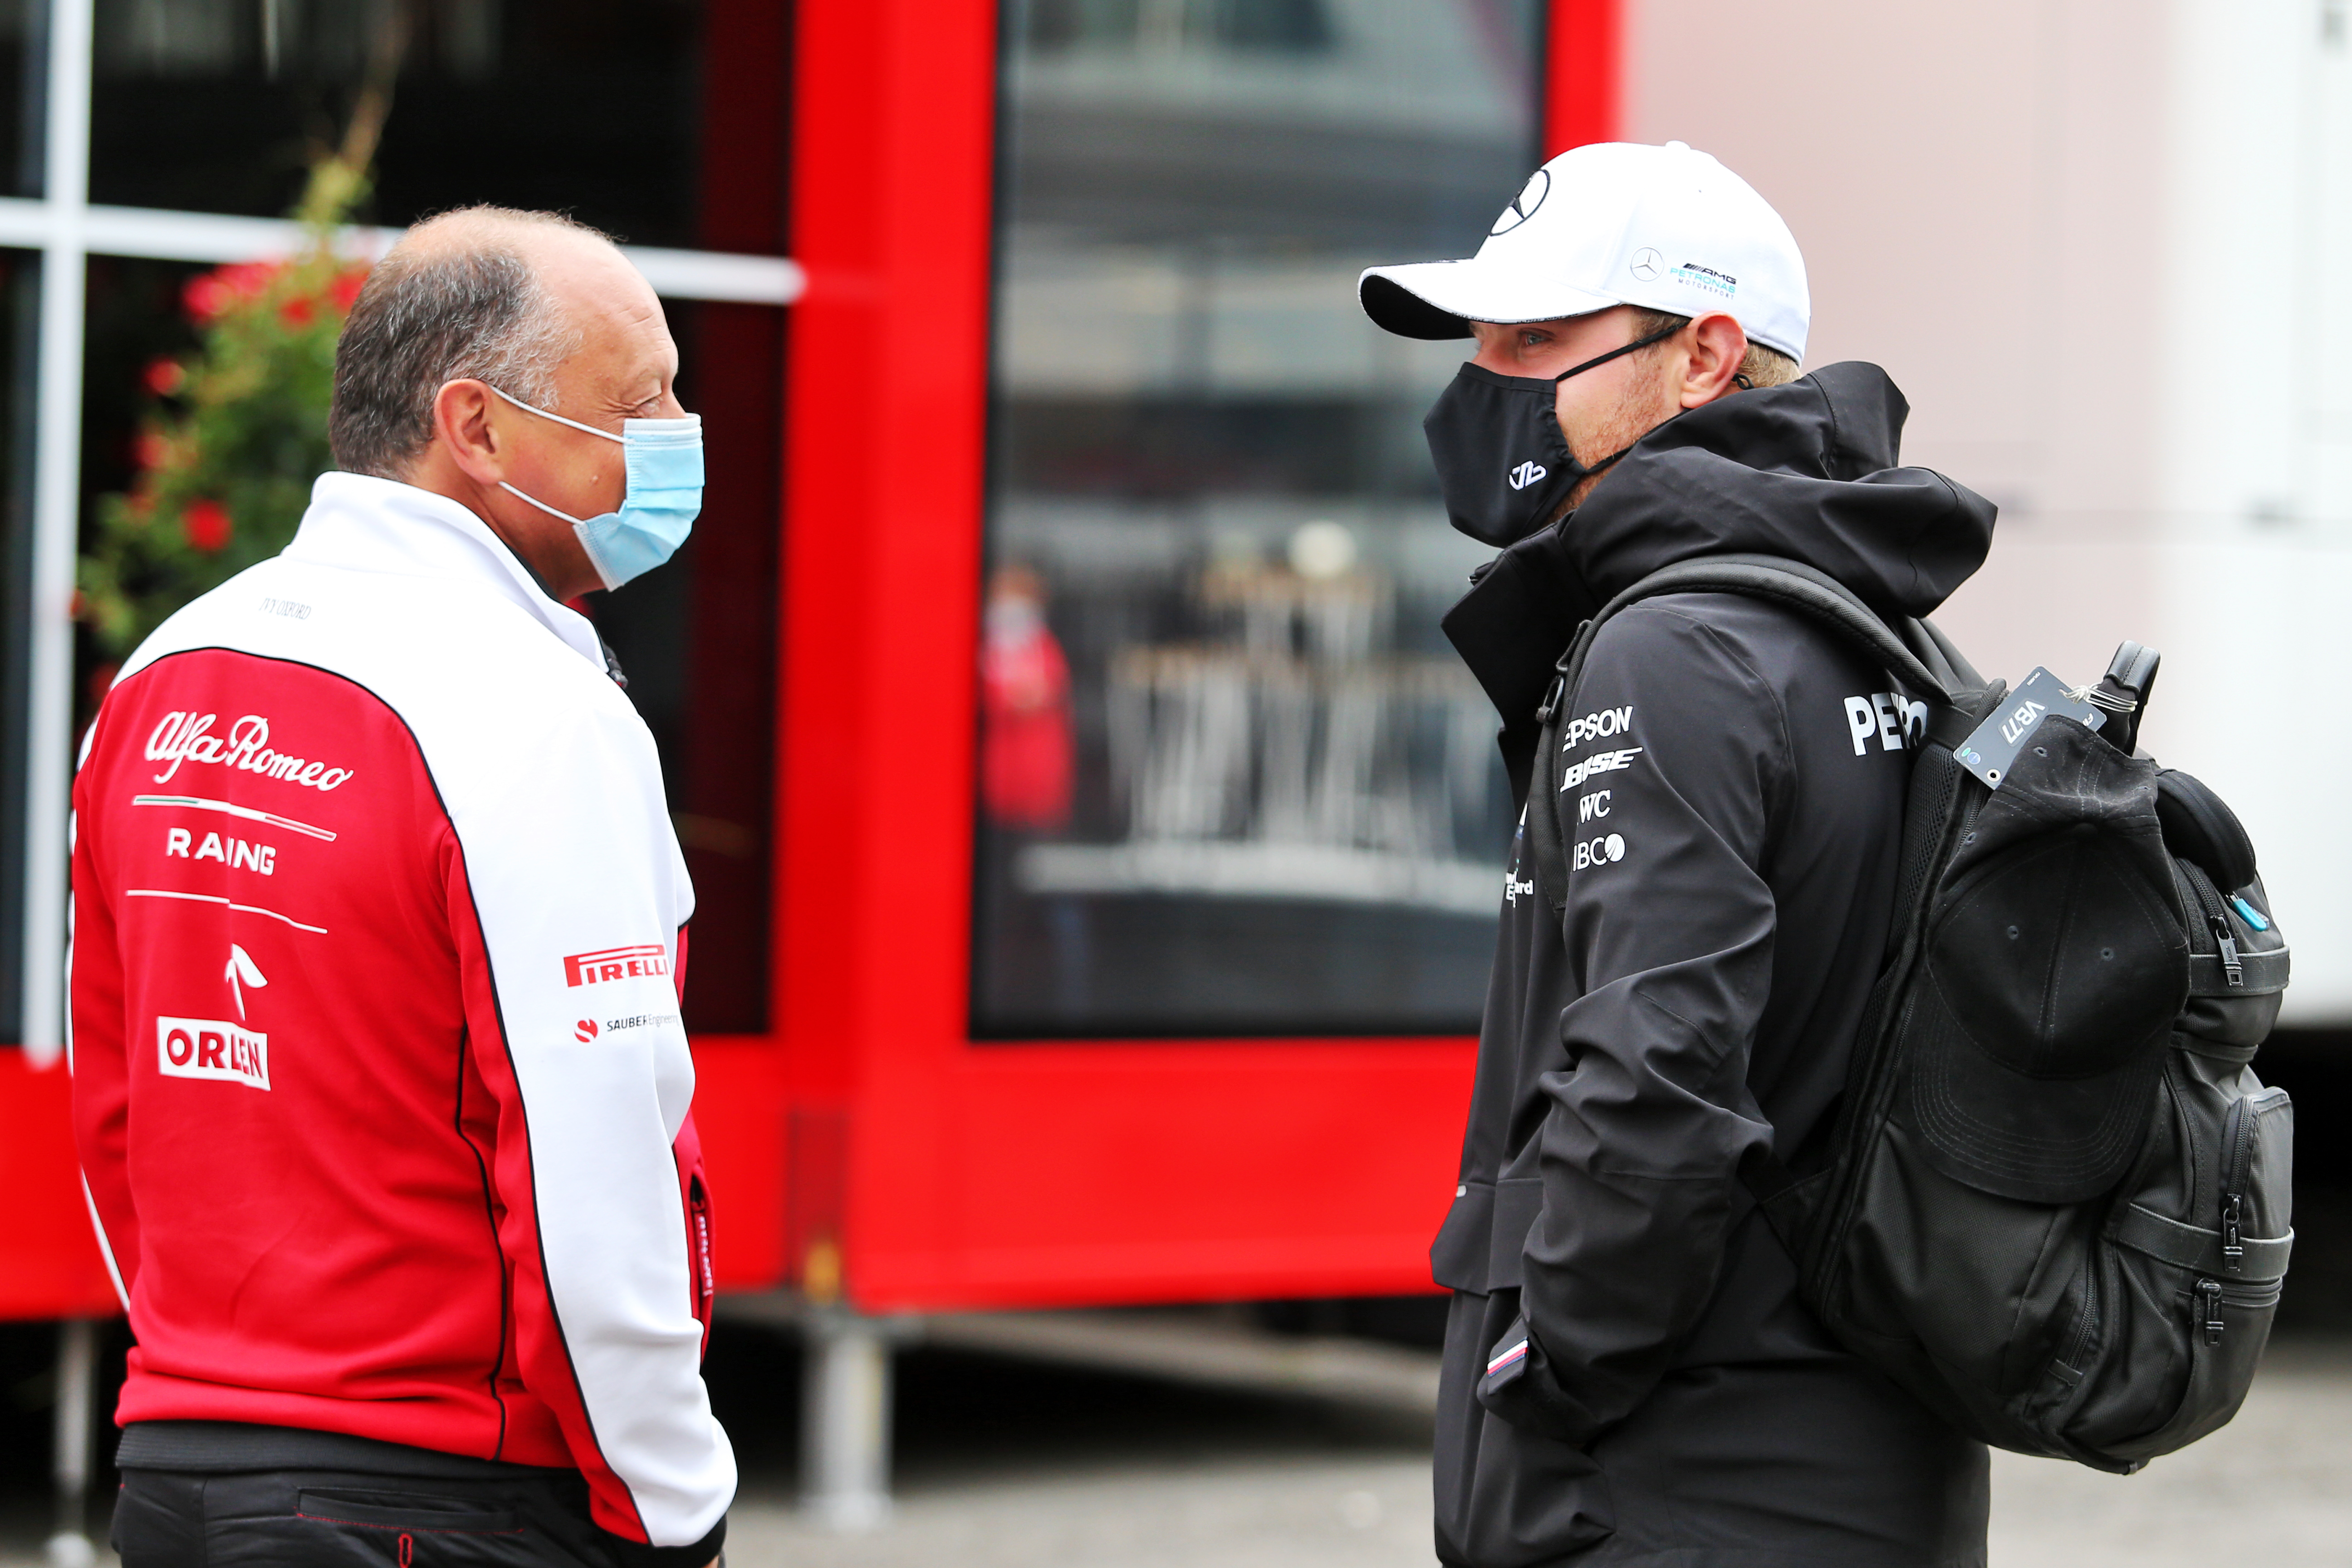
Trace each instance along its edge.
<path fill-rule="evenodd" d="M 1536 169 L 1468 261 L 1376 266 L 1364 315 L 1406 339 L 1470 322 L 1550 322 L 1611 306 L 1731 315 L 1804 360 L 1813 296 L 1788 223 L 1738 174 L 1679 141 L 1597 141 Z"/>

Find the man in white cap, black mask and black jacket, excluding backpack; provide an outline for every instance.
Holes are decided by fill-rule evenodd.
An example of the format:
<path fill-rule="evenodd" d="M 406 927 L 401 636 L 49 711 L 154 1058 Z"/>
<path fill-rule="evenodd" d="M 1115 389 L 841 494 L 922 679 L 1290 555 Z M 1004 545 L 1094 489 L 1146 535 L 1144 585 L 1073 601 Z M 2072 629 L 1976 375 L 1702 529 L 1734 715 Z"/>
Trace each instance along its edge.
<path fill-rule="evenodd" d="M 1555 158 L 1470 261 L 1374 268 L 1406 336 L 1475 336 L 1430 411 L 1456 527 L 1503 545 L 1446 632 L 1526 797 L 1578 623 L 1672 562 L 1806 562 L 1886 616 L 1983 562 L 1992 505 L 1896 468 L 1870 364 L 1795 378 L 1785 223 L 1682 143 Z M 1980 1443 L 1844 1352 L 1740 1182 L 1844 1084 L 1896 898 L 1912 708 L 1776 604 L 1665 595 L 1559 724 L 1552 919 L 1505 882 L 1454 1211 L 1437 1554 L 1468 1568 L 1978 1566 Z"/>

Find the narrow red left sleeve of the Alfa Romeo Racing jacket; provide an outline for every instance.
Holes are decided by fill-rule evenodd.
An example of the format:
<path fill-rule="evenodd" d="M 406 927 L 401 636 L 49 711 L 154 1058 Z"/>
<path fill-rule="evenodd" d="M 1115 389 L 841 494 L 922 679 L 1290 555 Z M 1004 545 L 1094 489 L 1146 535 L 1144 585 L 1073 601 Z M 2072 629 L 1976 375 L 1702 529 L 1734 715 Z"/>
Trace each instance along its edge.
<path fill-rule="evenodd" d="M 103 724 L 103 717 L 99 719 Z M 82 738 L 82 759 L 96 738 Z M 122 1013 L 122 945 L 115 910 L 99 877 L 99 844 L 92 832 L 89 797 L 73 788 L 73 903 L 68 912 L 68 1013 L 66 1067 L 73 1072 L 73 1143 L 82 1161 L 82 1194 L 99 1232 L 99 1251 L 125 1312 L 139 1279 L 139 1211 L 132 1206 L 129 1140 L 129 1039 Z"/>

